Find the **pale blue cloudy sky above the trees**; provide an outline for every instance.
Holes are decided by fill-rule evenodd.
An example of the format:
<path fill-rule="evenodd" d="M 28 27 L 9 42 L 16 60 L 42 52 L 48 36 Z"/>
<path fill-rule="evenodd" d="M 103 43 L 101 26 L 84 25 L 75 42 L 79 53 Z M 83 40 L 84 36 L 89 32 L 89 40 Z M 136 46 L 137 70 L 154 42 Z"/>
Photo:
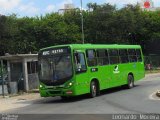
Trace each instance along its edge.
<path fill-rule="evenodd" d="M 57 12 L 64 8 L 64 4 L 74 4 L 80 8 L 81 0 L 0 0 L 0 14 L 11 15 L 17 14 L 18 17 L 32 17 L 45 15 L 46 13 Z M 87 3 L 104 4 L 110 3 L 121 8 L 126 4 L 136 4 L 142 0 L 82 0 L 83 9 L 86 9 Z M 152 0 L 155 7 L 160 7 L 160 0 Z"/>

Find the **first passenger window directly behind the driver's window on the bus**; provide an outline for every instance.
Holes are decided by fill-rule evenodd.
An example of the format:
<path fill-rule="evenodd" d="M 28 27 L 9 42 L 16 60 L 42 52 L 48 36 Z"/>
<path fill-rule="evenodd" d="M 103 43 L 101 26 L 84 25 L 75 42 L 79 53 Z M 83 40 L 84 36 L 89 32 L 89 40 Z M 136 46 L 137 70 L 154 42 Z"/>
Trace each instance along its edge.
<path fill-rule="evenodd" d="M 87 50 L 86 51 L 86 55 L 87 55 L 87 63 L 88 66 L 96 66 L 97 65 L 97 59 L 96 59 L 96 52 L 95 50 Z"/>

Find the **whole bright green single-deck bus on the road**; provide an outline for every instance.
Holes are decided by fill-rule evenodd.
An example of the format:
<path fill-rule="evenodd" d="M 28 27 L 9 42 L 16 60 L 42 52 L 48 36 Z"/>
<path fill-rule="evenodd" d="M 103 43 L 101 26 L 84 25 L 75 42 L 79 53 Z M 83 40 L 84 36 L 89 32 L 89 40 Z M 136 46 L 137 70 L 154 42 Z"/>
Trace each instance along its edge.
<path fill-rule="evenodd" d="M 42 97 L 95 97 L 107 88 L 132 88 L 145 76 L 139 45 L 58 45 L 41 49 L 38 59 Z"/>

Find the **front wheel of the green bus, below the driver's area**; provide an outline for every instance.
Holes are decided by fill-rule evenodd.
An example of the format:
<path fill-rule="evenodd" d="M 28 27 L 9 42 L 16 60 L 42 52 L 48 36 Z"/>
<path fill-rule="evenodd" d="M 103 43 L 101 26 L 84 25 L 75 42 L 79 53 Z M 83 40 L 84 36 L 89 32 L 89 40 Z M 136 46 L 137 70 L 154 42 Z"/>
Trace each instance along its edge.
<path fill-rule="evenodd" d="M 97 84 L 95 81 L 92 81 L 91 84 L 90 84 L 90 97 L 91 98 L 94 98 L 97 96 Z"/>

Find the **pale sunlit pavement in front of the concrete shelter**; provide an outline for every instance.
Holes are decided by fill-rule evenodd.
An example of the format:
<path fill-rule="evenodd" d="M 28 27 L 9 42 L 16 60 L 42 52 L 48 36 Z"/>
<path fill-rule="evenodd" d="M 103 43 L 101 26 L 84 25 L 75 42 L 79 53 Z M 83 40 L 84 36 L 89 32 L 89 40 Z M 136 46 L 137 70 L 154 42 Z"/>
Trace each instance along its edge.
<path fill-rule="evenodd" d="M 41 99 L 39 93 L 24 93 L 22 95 L 16 95 L 16 96 L 0 96 L 0 113 L 5 113 L 7 110 L 15 109 L 15 108 L 20 108 L 20 107 L 25 107 L 28 104 L 23 104 L 22 101 L 32 101 L 32 100 L 37 100 Z"/>

